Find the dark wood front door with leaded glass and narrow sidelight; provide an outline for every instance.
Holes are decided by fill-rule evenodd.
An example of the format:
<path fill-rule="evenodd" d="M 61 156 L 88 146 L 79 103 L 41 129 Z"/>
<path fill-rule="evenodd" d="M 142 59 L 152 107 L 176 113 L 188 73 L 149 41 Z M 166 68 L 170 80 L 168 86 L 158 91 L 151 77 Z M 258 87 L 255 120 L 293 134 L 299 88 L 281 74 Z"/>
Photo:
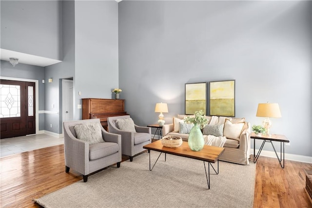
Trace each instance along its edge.
<path fill-rule="evenodd" d="M 0 138 L 36 133 L 35 83 L 0 80 Z"/>

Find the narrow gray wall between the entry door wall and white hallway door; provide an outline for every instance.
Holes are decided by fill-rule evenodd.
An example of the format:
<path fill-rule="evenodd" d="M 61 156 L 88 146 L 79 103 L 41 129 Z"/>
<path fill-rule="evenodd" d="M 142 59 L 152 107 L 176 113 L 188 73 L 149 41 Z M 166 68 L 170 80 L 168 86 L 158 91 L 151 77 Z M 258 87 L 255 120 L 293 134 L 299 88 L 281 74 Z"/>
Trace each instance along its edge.
<path fill-rule="evenodd" d="M 75 1 L 62 1 L 62 31 L 63 62 L 45 67 L 46 79 L 53 78 L 46 85 L 45 109 L 58 112 L 45 114 L 45 129 L 54 133 L 62 133 L 62 79 L 75 74 Z"/>

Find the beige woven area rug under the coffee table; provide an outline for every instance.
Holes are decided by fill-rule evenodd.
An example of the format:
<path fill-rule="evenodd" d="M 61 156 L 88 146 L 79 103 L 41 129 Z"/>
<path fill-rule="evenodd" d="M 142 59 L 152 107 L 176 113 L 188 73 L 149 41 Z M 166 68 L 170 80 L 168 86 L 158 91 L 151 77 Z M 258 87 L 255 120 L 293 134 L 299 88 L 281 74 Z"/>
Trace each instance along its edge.
<path fill-rule="evenodd" d="M 158 155 L 151 151 L 152 162 Z M 202 161 L 167 154 L 165 162 L 162 154 L 149 171 L 149 154 L 143 153 L 119 168 L 112 166 L 89 176 L 86 183 L 81 180 L 34 200 L 46 208 L 253 207 L 254 163 L 220 161 L 219 174 L 211 167 L 210 173 L 208 189 Z"/>

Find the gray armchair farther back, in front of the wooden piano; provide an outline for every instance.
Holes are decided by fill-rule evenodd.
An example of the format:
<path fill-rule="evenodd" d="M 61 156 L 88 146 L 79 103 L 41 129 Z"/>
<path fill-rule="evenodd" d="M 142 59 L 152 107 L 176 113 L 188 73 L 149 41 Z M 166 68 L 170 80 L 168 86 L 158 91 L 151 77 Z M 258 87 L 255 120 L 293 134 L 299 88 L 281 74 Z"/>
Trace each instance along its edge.
<path fill-rule="evenodd" d="M 144 151 L 144 145 L 152 142 L 151 128 L 135 125 L 136 132 L 122 131 L 117 128 L 117 119 L 130 118 L 130 116 L 115 116 L 107 118 L 108 131 L 110 133 L 121 135 L 121 152 L 124 155 L 130 156 L 130 162 L 133 161 L 133 156 Z"/>

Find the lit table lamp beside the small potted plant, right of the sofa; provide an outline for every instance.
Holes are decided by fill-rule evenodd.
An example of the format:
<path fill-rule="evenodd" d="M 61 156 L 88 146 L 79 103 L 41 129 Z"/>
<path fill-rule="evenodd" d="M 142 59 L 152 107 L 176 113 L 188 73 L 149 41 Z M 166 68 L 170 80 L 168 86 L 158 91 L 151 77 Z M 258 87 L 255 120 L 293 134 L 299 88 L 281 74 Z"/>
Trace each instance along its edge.
<path fill-rule="evenodd" d="M 269 118 L 280 118 L 282 116 L 278 104 L 266 103 L 266 104 L 258 104 L 256 117 L 265 117 L 262 124 L 266 129 L 266 134 L 271 135 L 270 128 L 272 126 L 272 122 L 270 121 Z"/>

